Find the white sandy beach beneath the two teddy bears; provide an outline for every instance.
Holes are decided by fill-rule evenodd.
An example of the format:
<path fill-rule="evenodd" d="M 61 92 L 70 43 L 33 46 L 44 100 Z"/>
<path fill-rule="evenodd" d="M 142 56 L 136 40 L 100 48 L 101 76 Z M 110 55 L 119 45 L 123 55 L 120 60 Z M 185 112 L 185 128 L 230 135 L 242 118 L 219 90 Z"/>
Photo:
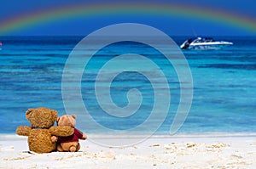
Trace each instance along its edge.
<path fill-rule="evenodd" d="M 0 168 L 256 168 L 255 136 L 153 136 L 125 148 L 80 144 L 76 153 L 33 154 L 26 137 L 1 135 Z"/>

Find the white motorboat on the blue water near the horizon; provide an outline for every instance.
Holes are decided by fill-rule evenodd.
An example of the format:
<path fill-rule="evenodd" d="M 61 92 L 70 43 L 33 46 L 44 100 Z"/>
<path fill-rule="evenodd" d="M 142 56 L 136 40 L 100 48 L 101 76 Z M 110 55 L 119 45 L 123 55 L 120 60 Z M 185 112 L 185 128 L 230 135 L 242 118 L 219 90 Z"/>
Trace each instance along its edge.
<path fill-rule="evenodd" d="M 233 42 L 215 41 L 212 37 L 193 37 L 183 42 L 182 49 L 216 50 L 233 45 Z"/>

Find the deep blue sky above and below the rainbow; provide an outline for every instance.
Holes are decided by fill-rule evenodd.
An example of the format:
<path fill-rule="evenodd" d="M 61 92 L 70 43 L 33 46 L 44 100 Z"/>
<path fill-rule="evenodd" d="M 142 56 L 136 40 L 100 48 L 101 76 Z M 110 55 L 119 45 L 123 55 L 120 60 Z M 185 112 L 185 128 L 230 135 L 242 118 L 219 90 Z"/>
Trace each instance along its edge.
<path fill-rule="evenodd" d="M 120 1 L 119 1 L 120 2 Z M 131 2 L 131 1 L 129 1 Z M 151 3 L 156 1 L 134 1 Z M 157 1 L 157 3 L 179 3 L 183 5 L 199 6 L 201 8 L 218 9 L 234 14 L 244 15 L 256 23 L 256 3 L 254 0 L 195 0 L 195 1 Z M 1 0 L 0 23 L 11 20 L 22 14 L 35 14 L 49 8 L 61 8 L 79 3 L 114 3 L 114 1 L 82 1 L 82 0 Z M 185 12 L 185 11 L 184 11 Z M 162 14 L 100 14 L 90 17 L 75 17 L 67 20 L 55 20 L 54 22 L 42 22 L 27 28 L 10 31 L 9 35 L 87 35 L 106 25 L 133 22 L 154 26 L 172 36 L 213 35 L 213 36 L 247 36 L 256 35 L 256 31 L 248 31 L 234 25 L 225 25 L 218 21 L 200 20 L 198 18 L 186 18 L 166 16 Z"/>

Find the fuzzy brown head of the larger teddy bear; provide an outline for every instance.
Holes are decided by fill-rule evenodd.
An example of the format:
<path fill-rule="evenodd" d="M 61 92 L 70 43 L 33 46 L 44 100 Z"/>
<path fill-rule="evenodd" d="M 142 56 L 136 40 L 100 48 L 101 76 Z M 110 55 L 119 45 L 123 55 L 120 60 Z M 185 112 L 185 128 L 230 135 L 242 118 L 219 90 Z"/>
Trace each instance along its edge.
<path fill-rule="evenodd" d="M 44 107 L 26 111 L 26 119 L 31 122 L 32 128 L 49 128 L 55 124 L 58 114 L 55 110 Z"/>

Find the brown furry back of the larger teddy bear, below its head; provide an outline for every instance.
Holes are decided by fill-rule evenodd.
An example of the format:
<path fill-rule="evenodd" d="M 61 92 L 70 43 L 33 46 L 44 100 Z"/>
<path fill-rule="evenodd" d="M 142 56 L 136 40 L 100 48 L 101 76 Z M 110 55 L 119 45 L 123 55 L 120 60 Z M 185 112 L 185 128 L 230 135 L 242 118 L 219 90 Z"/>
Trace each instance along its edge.
<path fill-rule="evenodd" d="M 36 153 L 49 153 L 54 151 L 56 144 L 55 142 L 51 142 L 50 137 L 49 129 L 32 129 L 27 140 L 29 149 Z"/>

